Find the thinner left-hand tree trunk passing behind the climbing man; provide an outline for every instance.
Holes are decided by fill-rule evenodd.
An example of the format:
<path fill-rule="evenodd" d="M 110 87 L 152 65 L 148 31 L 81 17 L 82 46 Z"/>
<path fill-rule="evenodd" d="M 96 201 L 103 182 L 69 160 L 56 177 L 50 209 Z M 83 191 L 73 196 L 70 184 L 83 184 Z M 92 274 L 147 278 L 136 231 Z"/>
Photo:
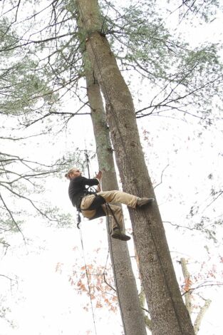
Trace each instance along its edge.
<path fill-rule="evenodd" d="M 79 23 L 79 35 L 84 41 L 85 33 Z M 95 135 L 98 164 L 103 170 L 102 188 L 118 190 L 118 181 L 113 160 L 113 149 L 110 143 L 108 124 L 105 118 L 103 99 L 98 81 L 90 66 L 87 53 L 83 48 L 83 63 L 85 66 L 85 79 L 87 84 L 88 101 Z M 146 335 L 145 321 L 138 297 L 138 289 L 133 274 L 130 254 L 126 242 L 111 239 L 108 232 L 110 258 L 113 263 L 115 287 L 123 320 L 123 329 L 126 335 Z"/>

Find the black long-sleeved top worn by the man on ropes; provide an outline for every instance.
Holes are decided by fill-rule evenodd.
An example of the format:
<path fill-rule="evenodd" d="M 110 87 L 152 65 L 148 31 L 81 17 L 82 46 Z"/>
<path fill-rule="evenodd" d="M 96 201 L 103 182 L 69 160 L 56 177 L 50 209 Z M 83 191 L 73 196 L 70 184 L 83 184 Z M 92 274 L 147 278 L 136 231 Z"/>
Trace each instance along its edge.
<path fill-rule="evenodd" d="M 96 178 L 88 179 L 79 175 L 71 179 L 70 185 L 68 188 L 68 194 L 71 199 L 72 205 L 76 206 L 77 208 L 81 205 L 81 200 L 84 195 L 94 194 L 95 192 L 88 191 L 88 186 L 98 185 L 99 181 Z"/>

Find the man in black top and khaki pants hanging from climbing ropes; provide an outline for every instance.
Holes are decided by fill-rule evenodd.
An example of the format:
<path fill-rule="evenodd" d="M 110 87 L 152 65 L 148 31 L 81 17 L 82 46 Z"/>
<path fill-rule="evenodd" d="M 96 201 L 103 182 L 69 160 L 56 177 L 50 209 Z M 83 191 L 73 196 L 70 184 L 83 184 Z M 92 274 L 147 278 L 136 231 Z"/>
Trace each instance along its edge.
<path fill-rule="evenodd" d="M 68 194 L 72 205 L 76 206 L 83 216 L 90 220 L 110 215 L 113 218 L 111 237 L 128 241 L 130 237 L 123 232 L 123 212 L 119 206 L 110 205 L 110 202 L 120 202 L 138 209 L 152 204 L 154 199 L 140 198 L 118 190 L 102 192 L 100 190 L 102 171 L 99 171 L 93 179 L 83 177 L 81 174 L 81 171 L 77 168 L 71 168 L 65 175 L 70 180 Z M 88 188 L 86 188 L 86 185 L 88 185 Z M 97 185 L 96 189 L 89 190 L 90 186 L 95 185 Z"/>

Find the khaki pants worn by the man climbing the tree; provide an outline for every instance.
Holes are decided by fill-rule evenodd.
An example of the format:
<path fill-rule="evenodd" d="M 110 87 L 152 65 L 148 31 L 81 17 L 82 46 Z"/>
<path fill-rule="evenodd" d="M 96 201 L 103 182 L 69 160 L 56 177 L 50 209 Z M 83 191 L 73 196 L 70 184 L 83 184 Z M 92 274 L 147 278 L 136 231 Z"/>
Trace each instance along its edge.
<path fill-rule="evenodd" d="M 97 195 L 100 195 L 105 199 L 106 202 L 120 202 L 124 205 L 127 205 L 129 207 L 135 208 L 136 203 L 138 201 L 138 197 L 135 195 L 130 195 L 125 192 L 121 191 L 107 191 L 107 192 L 98 192 Z M 87 195 L 86 197 L 83 197 L 83 200 L 81 201 L 81 210 L 83 217 L 87 217 L 88 219 L 91 219 L 95 213 L 96 210 L 88 210 L 90 205 L 92 204 L 93 200 L 95 199 L 95 195 Z M 105 214 L 107 214 L 105 205 L 102 205 L 103 210 Z M 123 230 L 123 211 L 119 206 L 110 205 L 110 208 L 113 210 L 113 213 L 115 215 L 116 220 L 118 221 L 120 225 L 120 229 Z M 112 213 L 110 212 L 108 208 L 108 215 L 112 216 L 112 228 L 117 226 Z"/>

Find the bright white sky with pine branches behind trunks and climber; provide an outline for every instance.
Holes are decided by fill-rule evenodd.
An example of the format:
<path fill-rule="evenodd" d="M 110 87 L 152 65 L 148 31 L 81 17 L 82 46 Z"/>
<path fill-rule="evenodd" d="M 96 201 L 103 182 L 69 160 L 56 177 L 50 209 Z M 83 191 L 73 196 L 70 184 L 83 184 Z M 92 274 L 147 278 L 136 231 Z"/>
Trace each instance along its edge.
<path fill-rule="evenodd" d="M 199 334 L 216 335 L 222 334 L 222 9 L 217 1 L 207 6 L 202 6 L 202 1 L 195 1 L 197 6 L 184 2 L 191 6 L 181 6 L 181 1 L 125 1 L 122 7 L 116 1 L 101 1 L 101 6 L 113 51 L 134 96 L 142 145 L 180 287 L 183 292 L 180 259 L 185 257 L 192 275 L 194 314 L 204 299 L 212 300 Z M 85 149 L 91 173 L 98 168 L 81 63 L 73 56 L 72 71 L 67 66 L 72 56 L 66 51 L 67 36 L 73 31 L 60 9 L 69 13 L 68 4 L 1 1 L 4 335 L 69 335 L 73 329 L 75 334 L 94 334 L 88 295 L 80 294 L 78 287 L 84 275 L 83 250 L 75 210 L 68 200 L 68 182 L 63 180 L 73 164 L 85 168 Z M 133 24 L 133 14 L 143 14 L 140 6 L 147 9 L 143 20 L 152 26 L 152 31 L 143 33 L 157 34 L 152 37 L 158 43 L 147 49 L 140 48 L 144 41 L 134 38 L 135 31 L 127 21 Z M 113 26 L 116 16 L 126 21 L 120 19 Z M 132 38 L 128 42 L 136 43 L 138 53 L 134 43 L 125 41 L 123 27 L 128 28 L 124 29 Z M 49 37 L 53 29 L 58 38 Z M 166 49 L 159 43 L 160 36 Z M 182 44 L 177 46 L 176 41 Z M 75 46 L 78 49 L 74 41 L 72 52 Z M 55 47 L 63 57 L 53 56 Z M 185 73 L 187 66 L 192 68 L 184 86 L 173 80 L 178 64 L 170 62 L 172 53 L 186 68 Z M 167 75 L 172 78 L 165 87 Z M 128 219 L 125 224 L 131 233 Z M 103 273 L 106 264 L 112 283 L 105 222 L 84 221 L 81 231 L 87 264 L 97 273 Z M 138 276 L 133 242 L 128 245 Z M 113 296 L 108 299 L 111 292 L 105 283 L 100 285 L 108 294 L 95 297 L 98 334 L 103 334 L 105 326 L 110 334 L 120 334 L 117 301 Z"/>

